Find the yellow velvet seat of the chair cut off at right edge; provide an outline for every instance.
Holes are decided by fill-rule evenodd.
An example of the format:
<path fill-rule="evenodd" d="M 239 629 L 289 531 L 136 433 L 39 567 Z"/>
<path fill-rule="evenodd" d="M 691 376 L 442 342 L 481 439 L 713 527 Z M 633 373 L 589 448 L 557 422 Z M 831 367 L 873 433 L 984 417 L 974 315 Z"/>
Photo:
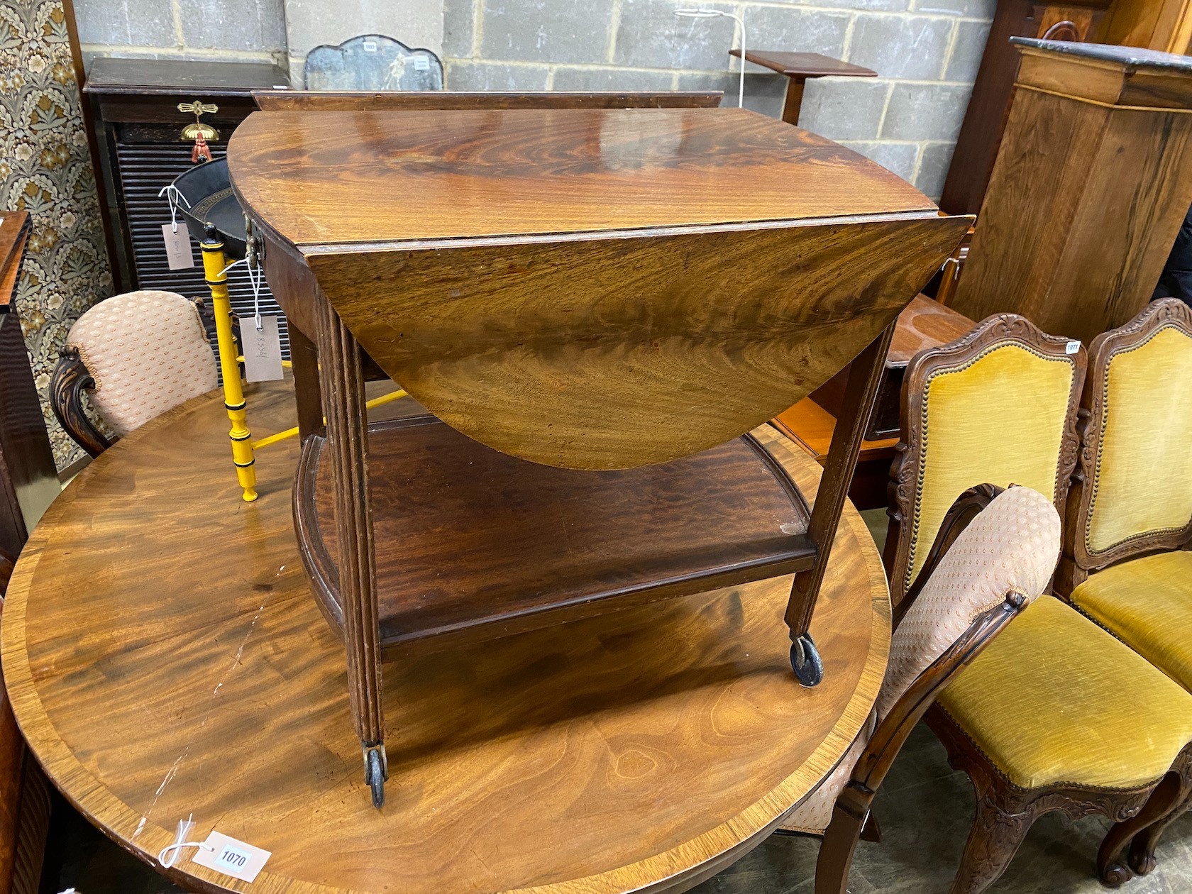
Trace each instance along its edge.
<path fill-rule="evenodd" d="M 1192 690 L 1192 553 L 1111 565 L 1073 590 L 1072 603 Z"/>

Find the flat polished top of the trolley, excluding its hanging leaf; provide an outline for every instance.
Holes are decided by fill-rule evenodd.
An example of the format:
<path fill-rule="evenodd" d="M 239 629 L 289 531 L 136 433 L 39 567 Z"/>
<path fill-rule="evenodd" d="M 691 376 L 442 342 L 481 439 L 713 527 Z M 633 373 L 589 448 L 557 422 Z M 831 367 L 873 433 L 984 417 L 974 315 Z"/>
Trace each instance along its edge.
<path fill-rule="evenodd" d="M 735 108 L 256 112 L 228 159 L 246 210 L 299 247 L 936 212 Z"/>

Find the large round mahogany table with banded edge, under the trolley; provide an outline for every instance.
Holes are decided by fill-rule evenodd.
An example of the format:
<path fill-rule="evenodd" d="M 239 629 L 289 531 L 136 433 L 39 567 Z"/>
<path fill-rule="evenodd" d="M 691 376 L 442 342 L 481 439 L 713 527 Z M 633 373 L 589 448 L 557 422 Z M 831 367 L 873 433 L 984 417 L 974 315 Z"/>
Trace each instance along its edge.
<path fill-rule="evenodd" d="M 259 435 L 292 424 L 249 392 Z M 868 716 L 890 634 L 886 578 L 845 508 L 800 687 L 789 578 L 688 596 L 384 668 L 391 778 L 372 807 L 343 647 L 291 527 L 297 443 L 240 498 L 222 398 L 119 441 L 46 513 L 4 609 L 13 709 L 49 777 L 157 865 L 180 819 L 272 851 L 252 884 L 184 851 L 192 890 L 683 890 L 762 842 Z M 759 436 L 808 497 L 818 466 Z M 159 867 L 159 869 L 161 869 Z"/>

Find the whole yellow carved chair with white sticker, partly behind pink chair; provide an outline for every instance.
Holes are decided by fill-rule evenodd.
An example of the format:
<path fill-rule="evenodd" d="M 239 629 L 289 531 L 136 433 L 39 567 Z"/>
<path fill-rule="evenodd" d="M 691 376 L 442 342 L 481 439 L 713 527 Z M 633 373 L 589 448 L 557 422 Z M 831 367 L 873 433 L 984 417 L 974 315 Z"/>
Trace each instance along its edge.
<path fill-rule="evenodd" d="M 911 361 L 886 553 L 895 595 L 923 573 L 921 545 L 958 489 L 1026 483 L 1064 505 L 1084 364 L 1079 343 L 1013 315 Z M 952 894 L 988 888 L 1049 811 L 1109 817 L 1098 870 L 1122 882 L 1126 848 L 1153 849 L 1144 836 L 1192 775 L 1192 696 L 1051 596 L 961 670 L 926 720 L 977 794 Z"/>

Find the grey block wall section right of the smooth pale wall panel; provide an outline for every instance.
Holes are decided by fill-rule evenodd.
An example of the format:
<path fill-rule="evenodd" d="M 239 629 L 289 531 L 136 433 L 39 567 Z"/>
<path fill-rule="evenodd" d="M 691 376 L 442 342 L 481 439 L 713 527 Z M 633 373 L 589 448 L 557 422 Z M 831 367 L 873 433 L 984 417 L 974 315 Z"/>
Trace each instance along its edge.
<path fill-rule="evenodd" d="M 747 46 L 821 52 L 876 79 L 808 81 L 801 126 L 859 151 L 932 198 L 985 50 L 995 0 L 445 0 L 448 89 L 701 89 L 735 105 L 732 19 Z M 787 79 L 750 64 L 745 106 L 778 116 Z"/>

